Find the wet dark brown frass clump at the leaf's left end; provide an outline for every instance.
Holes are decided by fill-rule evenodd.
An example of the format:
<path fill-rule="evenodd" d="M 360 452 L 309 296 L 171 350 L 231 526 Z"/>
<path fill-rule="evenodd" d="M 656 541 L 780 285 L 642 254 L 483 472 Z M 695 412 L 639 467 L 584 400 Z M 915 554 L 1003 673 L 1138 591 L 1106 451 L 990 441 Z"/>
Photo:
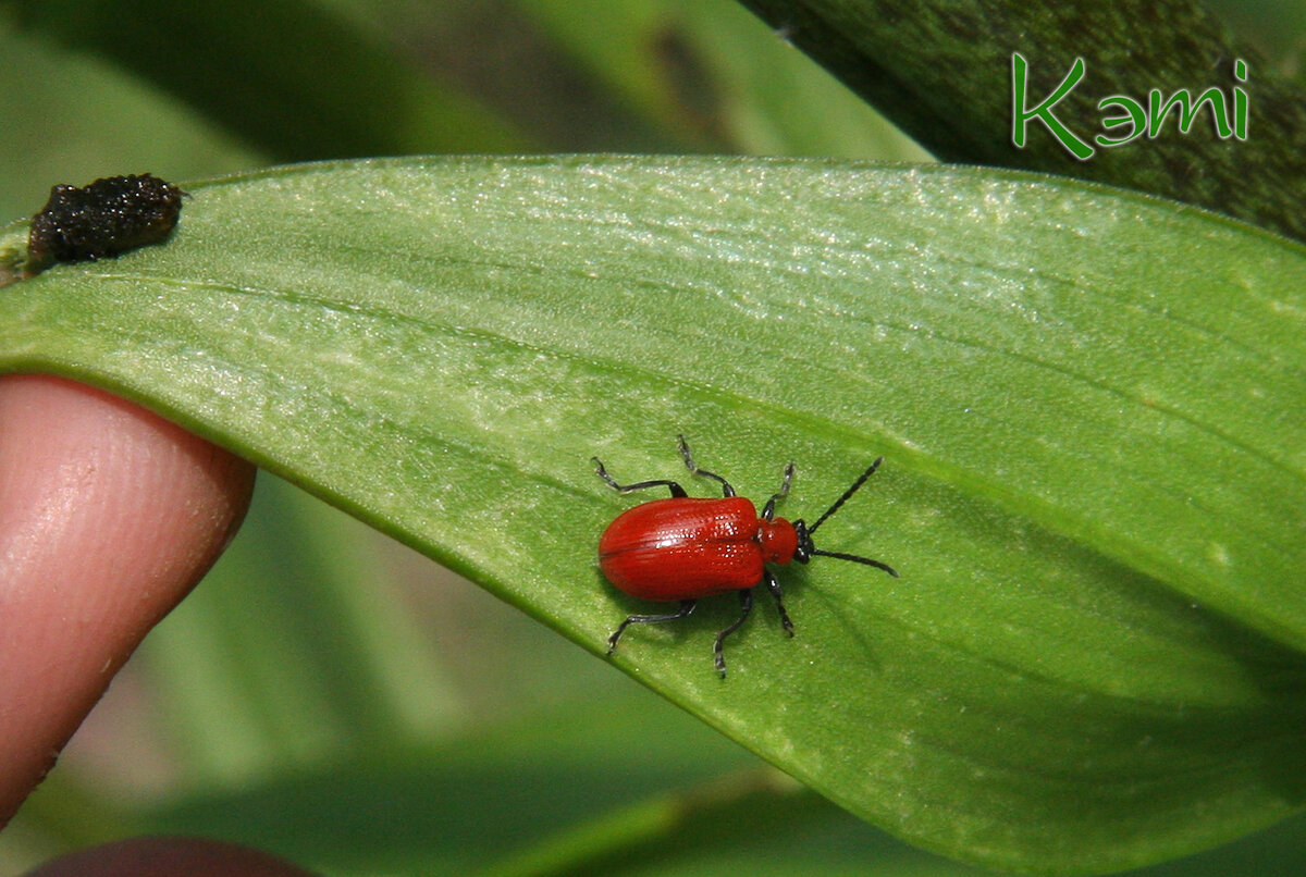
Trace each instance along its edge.
<path fill-rule="evenodd" d="M 176 224 L 183 196 L 179 187 L 150 174 L 110 176 L 84 188 L 56 185 L 31 219 L 27 271 L 157 244 Z"/>

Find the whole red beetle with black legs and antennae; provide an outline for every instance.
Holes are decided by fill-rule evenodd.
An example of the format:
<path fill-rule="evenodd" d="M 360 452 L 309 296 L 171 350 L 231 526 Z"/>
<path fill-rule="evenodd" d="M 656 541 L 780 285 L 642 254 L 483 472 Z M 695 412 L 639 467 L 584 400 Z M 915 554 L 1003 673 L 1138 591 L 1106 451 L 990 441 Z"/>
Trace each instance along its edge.
<path fill-rule="evenodd" d="M 858 564 L 878 566 L 889 576 L 897 573 L 888 564 L 870 557 L 858 557 L 836 551 L 819 551 L 812 544 L 812 534 L 825 519 L 838 512 L 840 506 L 866 483 L 883 457 L 876 459 L 844 495 L 829 506 L 825 514 L 810 527 L 803 521 L 790 523 L 774 517 L 776 502 L 789 496 L 789 484 L 794 480 L 794 465 L 785 467 L 785 478 L 780 492 L 767 500 L 757 515 L 751 500 L 735 496 L 730 483 L 707 470 L 699 469 L 690 455 L 684 436 L 679 437 L 680 457 L 693 475 L 710 478 L 721 484 L 722 499 L 693 499 L 675 482 L 663 479 L 618 484 L 607 474 L 603 463 L 596 457 L 596 471 L 618 493 L 643 491 L 649 487 L 666 487 L 671 499 L 652 500 L 616 517 L 598 540 L 598 565 L 613 585 L 645 600 L 679 600 L 679 612 L 665 615 L 632 615 L 607 638 L 607 654 L 616 649 L 616 641 L 632 624 L 652 624 L 674 621 L 693 612 L 699 598 L 739 592 L 739 606 L 743 609 L 739 620 L 717 634 L 713 647 L 717 672 L 726 675 L 726 660 L 721 654 L 725 638 L 739 629 L 752 611 L 752 589 L 765 583 L 776 598 L 780 609 L 780 623 L 789 636 L 794 636 L 794 625 L 785 612 L 781 600 L 780 582 L 767 568 L 767 564 L 788 564 L 797 560 L 806 564 L 812 556 L 838 557 Z"/>

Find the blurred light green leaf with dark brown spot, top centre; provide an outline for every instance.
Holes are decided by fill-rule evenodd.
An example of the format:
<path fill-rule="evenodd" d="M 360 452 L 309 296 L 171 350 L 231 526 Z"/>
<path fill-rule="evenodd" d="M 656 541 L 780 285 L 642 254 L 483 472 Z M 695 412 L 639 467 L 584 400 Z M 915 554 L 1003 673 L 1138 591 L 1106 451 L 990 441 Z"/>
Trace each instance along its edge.
<path fill-rule="evenodd" d="M 513 5 L 618 100 L 658 131 L 677 132 L 677 151 L 929 158 L 734 0 Z M 575 106 L 572 93 L 565 98 Z"/>

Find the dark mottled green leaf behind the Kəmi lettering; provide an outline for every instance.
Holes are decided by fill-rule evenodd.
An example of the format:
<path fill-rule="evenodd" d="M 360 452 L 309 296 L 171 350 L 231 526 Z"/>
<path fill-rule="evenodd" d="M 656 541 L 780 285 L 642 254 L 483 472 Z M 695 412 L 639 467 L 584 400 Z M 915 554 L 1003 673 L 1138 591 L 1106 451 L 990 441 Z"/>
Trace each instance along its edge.
<path fill-rule="evenodd" d="M 741 0 L 943 161 L 1063 174 L 1179 198 L 1306 238 L 1306 89 L 1275 73 L 1198 0 Z M 1098 106 L 1156 89 L 1195 99 L 1247 95 L 1246 140 L 1215 136 L 1209 111 L 1188 133 L 1171 114 L 1158 137 L 1079 161 L 1041 123 L 1012 145 L 1012 54 L 1029 61 L 1025 106 L 1051 95 L 1083 59 L 1083 81 L 1053 107 L 1075 134 L 1107 133 Z M 1247 61 L 1239 80 L 1234 59 Z M 1127 129 L 1110 132 L 1119 137 Z"/>

